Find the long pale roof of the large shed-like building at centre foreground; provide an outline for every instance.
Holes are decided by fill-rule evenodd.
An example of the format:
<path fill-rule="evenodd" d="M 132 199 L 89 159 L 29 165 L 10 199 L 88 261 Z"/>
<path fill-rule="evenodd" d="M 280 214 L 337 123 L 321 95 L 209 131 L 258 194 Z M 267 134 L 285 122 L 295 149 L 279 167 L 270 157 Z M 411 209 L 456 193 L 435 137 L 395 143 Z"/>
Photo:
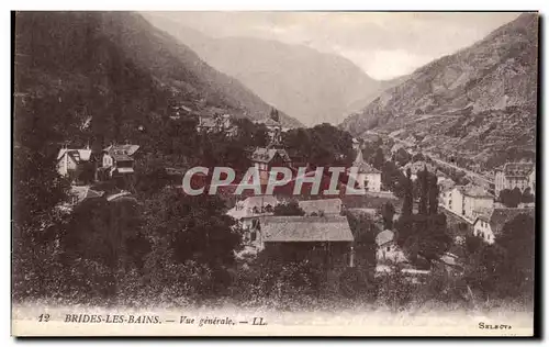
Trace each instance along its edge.
<path fill-rule="evenodd" d="M 265 242 L 352 242 L 345 216 L 267 216 L 261 221 Z"/>

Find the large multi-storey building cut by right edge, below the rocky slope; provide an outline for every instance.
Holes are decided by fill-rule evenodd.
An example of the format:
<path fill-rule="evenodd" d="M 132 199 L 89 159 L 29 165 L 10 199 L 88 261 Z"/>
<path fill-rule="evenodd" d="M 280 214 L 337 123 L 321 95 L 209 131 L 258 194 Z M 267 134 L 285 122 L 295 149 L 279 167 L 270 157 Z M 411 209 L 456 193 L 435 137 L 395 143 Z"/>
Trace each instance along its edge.
<path fill-rule="evenodd" d="M 495 170 L 495 195 L 504 189 L 513 190 L 518 187 L 522 192 L 527 188 L 536 194 L 536 165 L 534 163 L 507 163 Z"/>

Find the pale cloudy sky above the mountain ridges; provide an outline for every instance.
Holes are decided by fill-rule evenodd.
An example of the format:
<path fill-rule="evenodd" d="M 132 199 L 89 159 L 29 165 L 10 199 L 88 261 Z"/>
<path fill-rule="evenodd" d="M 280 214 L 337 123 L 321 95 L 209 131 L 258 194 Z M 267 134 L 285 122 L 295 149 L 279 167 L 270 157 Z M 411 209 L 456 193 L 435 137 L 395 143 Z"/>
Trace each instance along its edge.
<path fill-rule="evenodd" d="M 253 36 L 339 54 L 391 79 L 483 38 L 516 12 L 155 12 L 213 36 Z"/>

